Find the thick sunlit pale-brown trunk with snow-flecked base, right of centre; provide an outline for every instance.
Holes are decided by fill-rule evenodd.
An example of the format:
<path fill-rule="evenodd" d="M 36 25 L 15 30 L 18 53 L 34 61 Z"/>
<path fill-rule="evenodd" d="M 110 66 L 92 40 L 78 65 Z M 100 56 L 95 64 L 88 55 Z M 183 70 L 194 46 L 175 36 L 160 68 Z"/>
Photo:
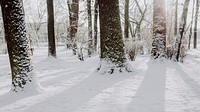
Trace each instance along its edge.
<path fill-rule="evenodd" d="M 165 0 L 154 0 L 153 2 L 153 43 L 151 55 L 156 59 L 166 55 L 166 15 Z"/>

